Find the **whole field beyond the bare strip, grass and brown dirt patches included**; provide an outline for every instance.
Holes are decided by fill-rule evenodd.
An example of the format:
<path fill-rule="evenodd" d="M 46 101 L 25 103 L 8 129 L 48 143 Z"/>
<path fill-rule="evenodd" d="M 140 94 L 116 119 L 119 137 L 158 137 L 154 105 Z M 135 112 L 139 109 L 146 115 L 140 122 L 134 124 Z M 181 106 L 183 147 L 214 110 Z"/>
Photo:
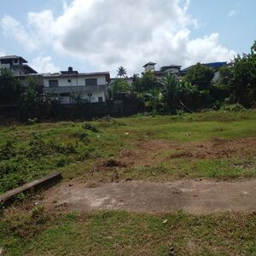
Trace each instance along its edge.
<path fill-rule="evenodd" d="M 125 165 L 117 168 L 120 178 L 173 180 L 256 174 L 255 111 L 137 116 L 92 124 L 96 131 L 73 122 L 1 127 L 0 194 L 55 170 L 65 178 L 108 181 L 113 169 L 104 169 L 104 163 L 104 172 L 91 172 L 104 160 L 108 167 L 108 160 L 125 159 Z M 237 141 L 242 138 L 248 140 Z M 215 152 L 220 139 L 223 147 Z M 236 141 L 227 148 L 224 140 Z"/>

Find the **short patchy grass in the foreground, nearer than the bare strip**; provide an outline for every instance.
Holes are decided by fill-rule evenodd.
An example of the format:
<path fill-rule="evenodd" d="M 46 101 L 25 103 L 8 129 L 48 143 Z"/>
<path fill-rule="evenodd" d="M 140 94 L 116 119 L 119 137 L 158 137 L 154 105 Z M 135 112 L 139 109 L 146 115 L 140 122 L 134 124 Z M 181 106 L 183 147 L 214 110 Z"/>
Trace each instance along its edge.
<path fill-rule="evenodd" d="M 50 218 L 34 211 L 0 220 L 6 255 L 255 255 L 256 215 L 124 211 Z"/>

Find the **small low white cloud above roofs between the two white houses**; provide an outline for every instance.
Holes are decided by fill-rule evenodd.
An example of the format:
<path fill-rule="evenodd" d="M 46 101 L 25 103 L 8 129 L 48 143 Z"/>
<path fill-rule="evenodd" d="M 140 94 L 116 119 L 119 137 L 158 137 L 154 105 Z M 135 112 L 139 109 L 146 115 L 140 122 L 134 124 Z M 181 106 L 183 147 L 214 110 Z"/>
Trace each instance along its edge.
<path fill-rule="evenodd" d="M 31 67 L 38 73 L 55 73 L 60 71 L 60 67 L 56 67 L 52 62 L 51 56 L 38 56 L 32 60 Z"/>

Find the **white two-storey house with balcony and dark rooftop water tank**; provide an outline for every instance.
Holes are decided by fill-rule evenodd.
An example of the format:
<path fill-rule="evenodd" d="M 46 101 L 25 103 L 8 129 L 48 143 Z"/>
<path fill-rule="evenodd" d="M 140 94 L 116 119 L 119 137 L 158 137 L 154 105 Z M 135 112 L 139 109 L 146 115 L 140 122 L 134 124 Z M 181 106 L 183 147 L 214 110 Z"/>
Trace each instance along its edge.
<path fill-rule="evenodd" d="M 108 99 L 108 72 L 79 73 L 68 67 L 61 73 L 42 75 L 44 93 L 58 96 L 62 104 L 70 104 L 75 96 L 84 102 L 106 102 Z"/>

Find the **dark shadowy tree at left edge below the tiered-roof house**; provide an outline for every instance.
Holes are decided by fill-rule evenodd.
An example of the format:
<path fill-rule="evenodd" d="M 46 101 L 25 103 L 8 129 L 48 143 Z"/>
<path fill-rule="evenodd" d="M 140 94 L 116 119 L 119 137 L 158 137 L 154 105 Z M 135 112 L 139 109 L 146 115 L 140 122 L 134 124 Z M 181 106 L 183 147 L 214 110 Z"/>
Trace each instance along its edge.
<path fill-rule="evenodd" d="M 1 104 L 18 104 L 23 90 L 20 80 L 16 79 L 9 69 L 0 70 L 0 102 Z"/>

